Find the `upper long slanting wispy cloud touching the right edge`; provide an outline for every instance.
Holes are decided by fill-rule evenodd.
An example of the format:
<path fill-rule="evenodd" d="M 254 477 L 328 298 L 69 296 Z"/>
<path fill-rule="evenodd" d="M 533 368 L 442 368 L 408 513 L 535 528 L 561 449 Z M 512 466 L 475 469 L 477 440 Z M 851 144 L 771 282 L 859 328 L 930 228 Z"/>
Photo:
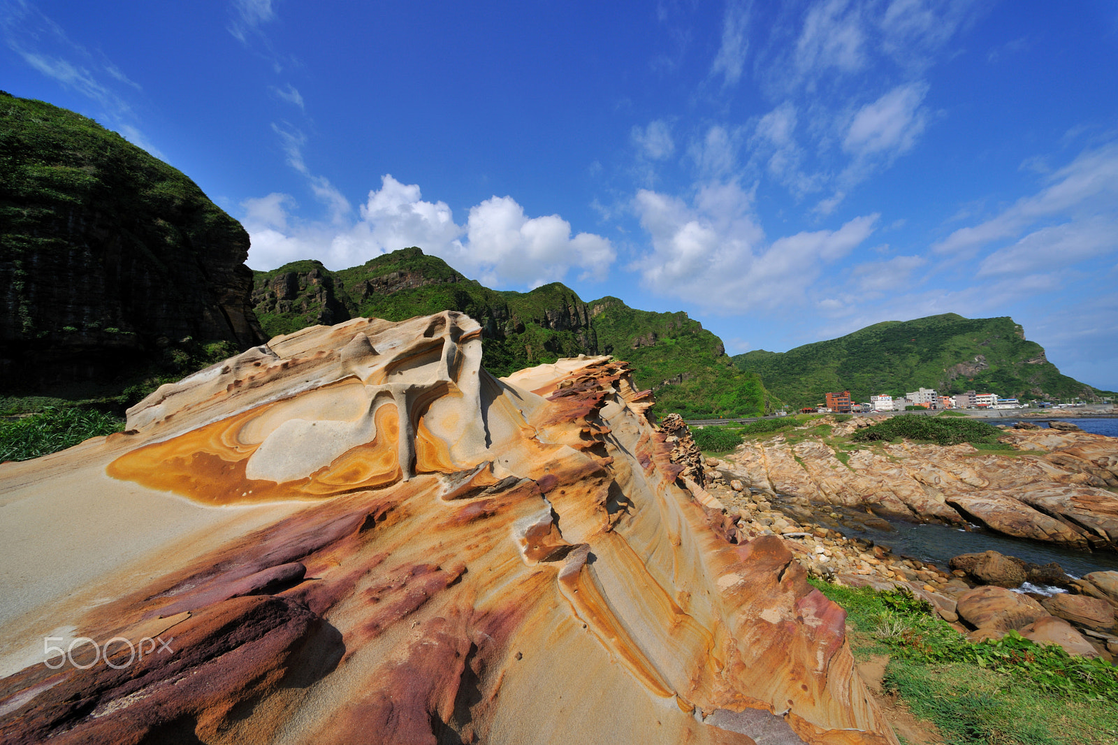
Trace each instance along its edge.
<path fill-rule="evenodd" d="M 1081 153 L 1070 164 L 1051 173 L 1050 186 L 1023 197 L 1002 214 L 973 227 L 955 230 L 934 246 L 941 254 L 973 253 L 987 245 L 1014 238 L 1030 226 L 1053 217 L 1090 220 L 1115 214 L 1118 198 L 1118 143 Z"/>

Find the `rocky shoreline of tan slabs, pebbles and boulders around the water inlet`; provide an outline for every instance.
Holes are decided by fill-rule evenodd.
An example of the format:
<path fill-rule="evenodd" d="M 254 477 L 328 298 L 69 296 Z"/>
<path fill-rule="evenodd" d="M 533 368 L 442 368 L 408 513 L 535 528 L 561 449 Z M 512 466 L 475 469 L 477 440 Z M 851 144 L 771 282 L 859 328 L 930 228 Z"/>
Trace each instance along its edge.
<path fill-rule="evenodd" d="M 1073 425 L 1039 430 L 1025 424 L 1003 435 L 1004 442 L 1027 451 L 1020 458 L 983 455 L 969 445 L 903 443 L 884 445 L 887 455 L 851 453 L 847 465 L 835 458 L 841 451 L 819 440 L 789 444 L 783 435 L 745 443 L 722 459 L 703 459 L 681 423 L 673 418 L 665 424 L 685 483 L 712 515 L 721 513 L 731 540 L 779 535 L 811 576 L 851 587 L 910 592 L 972 641 L 997 639 L 1012 630 L 1038 643 L 1060 644 L 1070 654 L 1118 659 L 1118 572 L 1077 578 L 1058 564 L 1031 564 L 997 551 L 956 556 L 950 566 L 940 567 L 849 537 L 815 517 L 821 508 L 850 515 L 852 507 L 864 510 L 861 520 L 869 525 L 885 522 L 874 510 L 945 522 L 978 513 L 986 516 L 987 526 L 1008 535 L 1048 536 L 1084 549 L 1112 548 L 1118 535 L 1112 525 L 1118 512 L 1111 511 L 1118 499 L 1109 491 L 1118 477 L 1114 438 Z M 861 421 L 827 424 L 849 432 Z M 828 458 L 850 470 L 821 466 Z M 1011 484 L 1016 485 L 1014 496 Z M 983 493 L 993 490 L 1003 493 Z M 774 504 L 778 493 L 787 499 L 779 506 L 784 509 Z M 1042 493 L 1055 499 L 1045 503 Z M 1100 506 L 1093 513 L 1082 510 L 1084 496 Z M 998 503 L 1011 499 L 1016 504 Z M 1030 500 L 1049 511 L 1031 508 Z M 1001 509 L 980 507 L 986 503 Z M 960 504 L 970 509 L 957 510 Z M 1020 510 L 1016 519 L 1003 518 L 1012 510 Z M 1088 525 L 1100 529 L 1091 532 Z"/>

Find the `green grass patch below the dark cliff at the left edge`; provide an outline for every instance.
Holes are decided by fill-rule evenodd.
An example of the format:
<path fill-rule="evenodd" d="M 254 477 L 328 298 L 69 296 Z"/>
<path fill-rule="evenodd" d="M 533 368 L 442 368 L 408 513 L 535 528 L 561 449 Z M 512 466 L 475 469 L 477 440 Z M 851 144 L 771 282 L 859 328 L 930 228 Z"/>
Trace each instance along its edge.
<path fill-rule="evenodd" d="M 26 461 L 56 453 L 124 428 L 117 417 L 97 411 L 50 407 L 39 414 L 0 424 L 0 462 Z"/>

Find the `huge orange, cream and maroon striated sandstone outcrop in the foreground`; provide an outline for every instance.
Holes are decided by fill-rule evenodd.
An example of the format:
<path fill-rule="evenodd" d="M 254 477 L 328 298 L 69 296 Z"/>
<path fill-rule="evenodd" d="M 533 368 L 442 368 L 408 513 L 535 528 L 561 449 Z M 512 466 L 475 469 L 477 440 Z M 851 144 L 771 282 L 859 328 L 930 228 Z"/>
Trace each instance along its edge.
<path fill-rule="evenodd" d="M 0 739 L 897 742 L 624 364 L 480 362 L 458 313 L 309 328 L 0 466 Z"/>

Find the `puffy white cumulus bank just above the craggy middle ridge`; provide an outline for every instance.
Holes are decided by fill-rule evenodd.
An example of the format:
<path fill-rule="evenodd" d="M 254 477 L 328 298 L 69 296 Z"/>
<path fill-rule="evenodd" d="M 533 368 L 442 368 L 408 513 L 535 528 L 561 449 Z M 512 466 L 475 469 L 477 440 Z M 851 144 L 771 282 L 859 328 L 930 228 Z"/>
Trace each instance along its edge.
<path fill-rule="evenodd" d="M 294 200 L 272 194 L 241 204 L 253 239 L 249 263 L 274 268 L 318 258 L 345 268 L 389 251 L 419 246 L 458 271 L 498 286 L 538 286 L 563 280 L 571 270 L 601 277 L 616 260 L 610 242 L 590 233 L 571 236 L 558 215 L 528 217 L 512 197 L 492 197 L 471 208 L 466 224 L 454 221 L 443 201 L 425 201 L 419 187 L 391 176 L 369 192 L 360 219 L 343 225 L 291 219 Z"/>

